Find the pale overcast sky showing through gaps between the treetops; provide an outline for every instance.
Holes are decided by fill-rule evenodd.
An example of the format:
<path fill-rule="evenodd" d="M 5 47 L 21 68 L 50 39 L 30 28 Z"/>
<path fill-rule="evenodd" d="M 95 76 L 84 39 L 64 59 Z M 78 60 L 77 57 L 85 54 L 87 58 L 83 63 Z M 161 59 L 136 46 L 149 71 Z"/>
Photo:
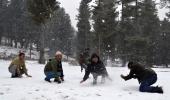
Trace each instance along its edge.
<path fill-rule="evenodd" d="M 72 25 L 74 26 L 75 29 L 77 29 L 76 28 L 76 24 L 77 24 L 76 15 L 78 14 L 77 9 L 79 8 L 79 4 L 81 0 L 58 0 L 58 1 L 61 3 L 60 6 L 64 7 L 66 12 L 70 15 Z M 159 2 L 159 0 L 157 0 L 157 2 Z M 165 12 L 167 12 L 167 10 L 159 9 L 158 12 L 159 12 L 159 17 L 161 20 L 165 18 Z"/>

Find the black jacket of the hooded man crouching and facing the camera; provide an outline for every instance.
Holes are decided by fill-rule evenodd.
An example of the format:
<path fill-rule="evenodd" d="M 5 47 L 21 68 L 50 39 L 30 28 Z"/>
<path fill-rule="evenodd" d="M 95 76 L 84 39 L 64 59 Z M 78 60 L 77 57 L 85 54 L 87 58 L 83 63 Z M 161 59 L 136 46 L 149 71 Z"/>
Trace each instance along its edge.
<path fill-rule="evenodd" d="M 106 68 L 103 64 L 103 62 L 99 61 L 98 63 L 90 63 L 87 65 L 87 70 L 85 72 L 83 80 L 86 81 L 89 78 L 90 73 L 97 73 L 98 75 L 106 75 L 108 76 L 108 73 L 106 71 Z"/>

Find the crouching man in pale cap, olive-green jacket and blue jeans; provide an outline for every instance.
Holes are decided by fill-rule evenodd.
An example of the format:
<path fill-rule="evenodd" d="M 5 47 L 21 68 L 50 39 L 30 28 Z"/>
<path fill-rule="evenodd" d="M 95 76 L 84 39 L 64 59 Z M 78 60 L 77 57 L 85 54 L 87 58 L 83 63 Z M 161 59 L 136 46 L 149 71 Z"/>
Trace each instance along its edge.
<path fill-rule="evenodd" d="M 62 53 L 57 51 L 55 58 L 51 59 L 44 68 L 45 81 L 51 82 L 51 79 L 54 78 L 54 82 L 61 83 L 64 81 L 63 68 L 62 68 Z"/>

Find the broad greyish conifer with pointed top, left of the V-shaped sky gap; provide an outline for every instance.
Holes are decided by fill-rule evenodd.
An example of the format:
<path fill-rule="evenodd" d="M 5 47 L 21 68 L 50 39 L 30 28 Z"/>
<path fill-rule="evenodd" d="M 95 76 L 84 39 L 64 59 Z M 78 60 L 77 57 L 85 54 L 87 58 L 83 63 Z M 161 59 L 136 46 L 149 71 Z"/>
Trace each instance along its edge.
<path fill-rule="evenodd" d="M 74 28 L 71 25 L 70 16 L 64 8 L 59 8 L 54 12 L 54 17 L 50 22 L 49 41 L 47 46 L 50 48 L 50 57 L 53 57 L 56 50 L 62 51 L 65 55 L 73 55 Z M 55 46 L 54 46 L 55 45 Z"/>

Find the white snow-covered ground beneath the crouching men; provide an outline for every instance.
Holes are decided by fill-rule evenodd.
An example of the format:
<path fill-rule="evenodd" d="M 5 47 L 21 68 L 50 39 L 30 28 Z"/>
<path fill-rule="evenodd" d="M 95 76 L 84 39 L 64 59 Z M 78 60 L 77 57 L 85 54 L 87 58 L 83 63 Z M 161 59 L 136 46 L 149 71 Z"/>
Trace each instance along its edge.
<path fill-rule="evenodd" d="M 120 74 L 127 74 L 127 68 L 108 67 L 113 79 L 106 84 L 92 85 L 92 77 L 79 84 L 84 73 L 79 66 L 63 63 L 65 82 L 63 84 L 44 81 L 43 68 L 35 61 L 26 65 L 32 78 L 11 79 L 8 73 L 10 61 L 0 60 L 0 100 L 170 100 L 170 69 L 155 69 L 158 82 L 164 94 L 141 93 L 137 80 L 123 81 Z"/>

